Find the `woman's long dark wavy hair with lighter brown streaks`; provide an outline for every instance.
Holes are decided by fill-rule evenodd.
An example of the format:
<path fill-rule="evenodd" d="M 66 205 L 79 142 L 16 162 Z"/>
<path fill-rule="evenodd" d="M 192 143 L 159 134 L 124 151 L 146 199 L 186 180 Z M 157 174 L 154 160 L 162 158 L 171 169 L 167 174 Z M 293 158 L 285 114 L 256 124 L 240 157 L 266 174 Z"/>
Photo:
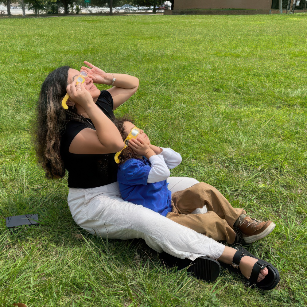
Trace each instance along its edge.
<path fill-rule="evenodd" d="M 65 122 L 75 119 L 93 126 L 76 109 L 62 107 L 61 97 L 66 94 L 69 66 L 62 66 L 50 72 L 41 86 L 35 124 L 35 150 L 48 178 L 62 178 L 65 175 L 64 163 L 60 156 L 61 131 Z"/>

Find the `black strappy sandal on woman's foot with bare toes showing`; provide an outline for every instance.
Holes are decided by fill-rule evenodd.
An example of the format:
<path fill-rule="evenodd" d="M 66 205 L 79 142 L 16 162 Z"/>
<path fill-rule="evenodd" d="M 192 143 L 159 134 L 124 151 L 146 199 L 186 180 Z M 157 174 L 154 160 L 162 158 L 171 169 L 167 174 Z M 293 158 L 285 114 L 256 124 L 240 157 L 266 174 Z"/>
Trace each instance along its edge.
<path fill-rule="evenodd" d="M 249 251 L 247 251 L 239 244 L 232 246 L 232 248 L 235 248 L 237 250 L 235 252 L 235 255 L 233 256 L 232 265 L 228 265 L 226 263 L 221 262 L 223 267 L 226 267 L 227 269 L 230 269 L 243 275 L 239 269 L 240 260 L 244 256 L 250 256 L 252 258 L 258 259 L 258 261 L 254 264 L 250 279 L 244 277 L 249 286 L 251 288 L 254 288 L 256 286 L 263 290 L 271 290 L 277 286 L 279 282 L 279 273 L 278 270 L 274 266 L 272 266 L 272 264 L 252 255 Z M 262 279 L 261 282 L 257 282 L 260 270 L 263 270 L 265 267 L 268 269 L 268 274 L 264 279 Z"/>

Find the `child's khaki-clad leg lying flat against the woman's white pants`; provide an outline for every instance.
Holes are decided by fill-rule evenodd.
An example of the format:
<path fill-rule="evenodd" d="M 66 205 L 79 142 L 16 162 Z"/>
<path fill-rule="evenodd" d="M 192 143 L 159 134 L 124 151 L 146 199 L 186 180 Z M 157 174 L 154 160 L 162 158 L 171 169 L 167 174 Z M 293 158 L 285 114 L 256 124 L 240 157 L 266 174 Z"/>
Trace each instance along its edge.
<path fill-rule="evenodd" d="M 227 243 L 235 241 L 235 231 L 227 224 L 226 220 L 221 219 L 213 211 L 187 215 L 169 212 L 166 217 L 216 241 L 227 241 Z"/>

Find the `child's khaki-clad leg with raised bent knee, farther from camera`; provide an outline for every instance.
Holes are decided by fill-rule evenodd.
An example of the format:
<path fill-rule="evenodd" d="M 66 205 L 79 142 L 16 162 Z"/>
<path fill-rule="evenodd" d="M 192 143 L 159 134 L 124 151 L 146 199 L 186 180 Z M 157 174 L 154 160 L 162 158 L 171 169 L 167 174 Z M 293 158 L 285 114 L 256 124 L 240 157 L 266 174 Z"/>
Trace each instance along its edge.
<path fill-rule="evenodd" d="M 213 211 L 221 219 L 226 220 L 231 228 L 239 216 L 245 213 L 243 209 L 233 208 L 216 188 L 204 182 L 172 193 L 172 200 L 178 213 L 189 214 L 196 208 L 206 206 L 208 211 Z"/>

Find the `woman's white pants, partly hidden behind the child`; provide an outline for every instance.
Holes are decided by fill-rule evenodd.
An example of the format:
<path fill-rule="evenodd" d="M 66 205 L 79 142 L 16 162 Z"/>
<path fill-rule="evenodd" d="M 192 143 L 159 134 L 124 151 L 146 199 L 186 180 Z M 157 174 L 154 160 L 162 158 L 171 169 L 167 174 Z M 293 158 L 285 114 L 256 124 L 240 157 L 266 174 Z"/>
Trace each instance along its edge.
<path fill-rule="evenodd" d="M 168 182 L 172 192 L 198 183 L 188 177 L 169 177 Z M 122 200 L 117 182 L 97 188 L 70 188 L 68 206 L 80 227 L 102 238 L 142 238 L 157 252 L 191 260 L 201 256 L 217 259 L 225 248 L 157 212 Z"/>

